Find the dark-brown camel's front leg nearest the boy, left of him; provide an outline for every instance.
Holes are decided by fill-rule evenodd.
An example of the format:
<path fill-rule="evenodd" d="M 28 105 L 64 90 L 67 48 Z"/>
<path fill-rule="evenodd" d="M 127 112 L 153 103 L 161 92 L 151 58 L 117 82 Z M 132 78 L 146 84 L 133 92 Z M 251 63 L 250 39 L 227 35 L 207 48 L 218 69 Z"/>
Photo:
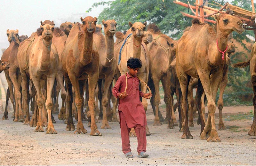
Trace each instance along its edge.
<path fill-rule="evenodd" d="M 99 79 L 99 72 L 94 72 L 88 74 L 89 79 L 88 79 L 88 85 L 89 85 L 89 101 L 88 101 L 88 106 L 90 109 L 90 115 L 91 115 L 91 133 L 90 135 L 93 136 L 98 136 L 101 135 L 101 133 L 98 131 L 98 127 L 95 123 L 95 88 L 97 85 L 97 81 Z"/>

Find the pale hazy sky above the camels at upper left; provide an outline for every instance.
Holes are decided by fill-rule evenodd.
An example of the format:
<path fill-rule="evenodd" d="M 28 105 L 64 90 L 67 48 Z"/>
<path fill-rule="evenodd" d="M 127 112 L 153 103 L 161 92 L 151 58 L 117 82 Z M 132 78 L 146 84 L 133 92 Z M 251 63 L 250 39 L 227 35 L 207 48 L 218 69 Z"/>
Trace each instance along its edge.
<path fill-rule="evenodd" d="M 106 0 L 1 0 L 0 5 L 0 49 L 8 48 L 6 31 L 19 30 L 19 35 L 28 37 L 40 27 L 40 21 L 54 21 L 56 27 L 66 21 L 80 22 L 81 17 L 98 17 L 104 6 L 85 13 L 93 3 Z M 107 6 L 105 6 L 107 7 Z M 98 20 L 100 21 L 100 20 Z M 100 21 L 101 22 L 101 21 Z M 2 51 L 0 50 L 0 56 Z"/>

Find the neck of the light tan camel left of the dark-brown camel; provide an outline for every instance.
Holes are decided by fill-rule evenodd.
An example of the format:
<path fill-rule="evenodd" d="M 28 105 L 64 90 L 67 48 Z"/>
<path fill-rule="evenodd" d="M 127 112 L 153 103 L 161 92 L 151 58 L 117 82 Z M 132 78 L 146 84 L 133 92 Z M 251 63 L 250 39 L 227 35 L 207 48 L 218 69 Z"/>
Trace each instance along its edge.
<path fill-rule="evenodd" d="M 42 46 L 43 46 L 43 51 L 42 51 L 42 57 L 40 58 L 40 70 L 45 71 L 48 69 L 50 65 L 50 56 L 51 56 L 51 48 L 52 48 L 52 39 L 50 40 L 44 40 L 42 38 Z"/>

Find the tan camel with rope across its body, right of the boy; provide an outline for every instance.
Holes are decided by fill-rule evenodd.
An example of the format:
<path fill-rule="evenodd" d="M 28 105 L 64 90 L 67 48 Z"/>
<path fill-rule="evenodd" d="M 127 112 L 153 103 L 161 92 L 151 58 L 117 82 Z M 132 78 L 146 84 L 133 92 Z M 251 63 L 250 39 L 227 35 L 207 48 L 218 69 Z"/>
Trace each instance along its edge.
<path fill-rule="evenodd" d="M 164 102 L 166 104 L 166 109 L 168 108 L 168 94 L 170 85 L 167 85 L 167 70 L 171 64 L 174 54 L 170 50 L 170 43 L 172 39 L 162 34 L 160 29 L 155 24 L 149 24 L 147 30 L 153 34 L 154 41 L 147 45 L 149 51 L 149 78 L 153 81 L 153 86 L 155 90 L 154 99 L 150 100 L 153 110 L 155 110 L 155 120 L 153 125 L 161 125 L 159 119 L 159 104 L 160 104 L 160 94 L 159 94 L 159 81 L 161 80 L 164 88 Z M 161 65 L 159 65 L 161 64 Z M 168 111 L 167 111 L 168 112 Z"/>

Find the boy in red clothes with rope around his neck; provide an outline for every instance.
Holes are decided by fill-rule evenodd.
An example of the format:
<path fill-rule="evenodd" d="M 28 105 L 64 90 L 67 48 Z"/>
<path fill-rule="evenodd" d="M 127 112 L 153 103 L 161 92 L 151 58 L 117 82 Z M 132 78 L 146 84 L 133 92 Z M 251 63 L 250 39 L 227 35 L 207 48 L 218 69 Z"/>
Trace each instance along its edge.
<path fill-rule="evenodd" d="M 119 98 L 118 113 L 120 119 L 122 148 L 125 157 L 133 157 L 131 152 L 129 132 L 134 128 L 138 139 L 138 157 L 148 157 L 146 154 L 147 140 L 146 128 L 147 119 L 140 97 L 149 99 L 152 94 L 139 91 L 140 80 L 137 73 L 141 68 L 141 61 L 138 58 L 129 58 L 127 61 L 128 72 L 120 76 L 112 93 Z M 125 93 L 126 92 L 126 93 Z"/>

